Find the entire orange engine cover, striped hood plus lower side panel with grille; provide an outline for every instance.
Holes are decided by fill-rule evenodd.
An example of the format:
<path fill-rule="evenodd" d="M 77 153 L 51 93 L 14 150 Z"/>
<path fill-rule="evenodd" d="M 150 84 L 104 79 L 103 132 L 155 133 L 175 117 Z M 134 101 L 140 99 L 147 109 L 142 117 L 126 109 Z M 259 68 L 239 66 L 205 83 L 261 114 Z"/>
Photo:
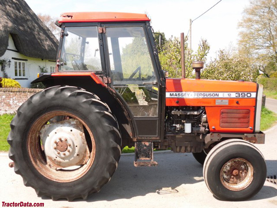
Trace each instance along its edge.
<path fill-rule="evenodd" d="M 246 81 L 167 78 L 166 106 L 205 107 L 211 132 L 259 132 L 258 89 L 257 83 Z M 262 86 L 259 103 L 261 96 Z"/>

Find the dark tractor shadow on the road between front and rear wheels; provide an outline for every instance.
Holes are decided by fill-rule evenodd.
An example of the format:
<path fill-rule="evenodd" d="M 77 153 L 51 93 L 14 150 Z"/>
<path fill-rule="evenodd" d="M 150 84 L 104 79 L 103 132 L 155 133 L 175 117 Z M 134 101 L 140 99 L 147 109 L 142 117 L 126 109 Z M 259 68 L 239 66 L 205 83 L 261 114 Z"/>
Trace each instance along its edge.
<path fill-rule="evenodd" d="M 182 184 L 204 181 L 203 166 L 190 153 L 157 153 L 154 159 L 158 162 L 156 167 L 134 167 L 134 155 L 122 155 L 111 181 L 86 201 L 130 199 L 157 191 L 158 194 L 163 188 L 176 193 Z"/>

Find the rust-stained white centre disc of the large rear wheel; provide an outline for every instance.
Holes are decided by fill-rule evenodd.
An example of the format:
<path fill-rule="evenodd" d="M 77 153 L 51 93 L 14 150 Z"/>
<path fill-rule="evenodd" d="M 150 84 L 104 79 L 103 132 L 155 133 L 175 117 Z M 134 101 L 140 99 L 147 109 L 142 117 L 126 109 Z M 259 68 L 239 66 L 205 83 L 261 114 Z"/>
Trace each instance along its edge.
<path fill-rule="evenodd" d="M 44 125 L 40 138 L 51 168 L 83 165 L 89 159 L 83 125 L 73 118 Z"/>

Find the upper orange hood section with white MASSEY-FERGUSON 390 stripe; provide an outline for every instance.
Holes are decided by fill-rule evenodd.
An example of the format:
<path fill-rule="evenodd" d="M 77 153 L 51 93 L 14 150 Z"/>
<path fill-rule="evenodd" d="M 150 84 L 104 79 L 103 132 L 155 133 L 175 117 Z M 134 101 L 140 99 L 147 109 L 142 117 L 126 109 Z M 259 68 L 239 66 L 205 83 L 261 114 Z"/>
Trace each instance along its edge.
<path fill-rule="evenodd" d="M 166 79 L 167 106 L 255 106 L 258 84 L 246 81 Z"/>

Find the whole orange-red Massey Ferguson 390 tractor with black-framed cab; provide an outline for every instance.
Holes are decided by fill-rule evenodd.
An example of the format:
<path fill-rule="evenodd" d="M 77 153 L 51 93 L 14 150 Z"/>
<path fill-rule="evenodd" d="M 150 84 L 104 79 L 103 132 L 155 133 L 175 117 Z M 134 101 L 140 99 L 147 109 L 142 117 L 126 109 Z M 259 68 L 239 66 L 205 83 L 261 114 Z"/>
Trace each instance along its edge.
<path fill-rule="evenodd" d="M 58 25 L 55 72 L 33 81 L 46 89 L 18 108 L 8 135 L 14 170 L 38 196 L 98 192 L 126 145 L 135 166 L 156 166 L 154 148 L 192 153 L 221 200 L 259 192 L 261 85 L 200 79 L 203 62 L 196 79 L 168 78 L 145 14 L 64 13 Z"/>

